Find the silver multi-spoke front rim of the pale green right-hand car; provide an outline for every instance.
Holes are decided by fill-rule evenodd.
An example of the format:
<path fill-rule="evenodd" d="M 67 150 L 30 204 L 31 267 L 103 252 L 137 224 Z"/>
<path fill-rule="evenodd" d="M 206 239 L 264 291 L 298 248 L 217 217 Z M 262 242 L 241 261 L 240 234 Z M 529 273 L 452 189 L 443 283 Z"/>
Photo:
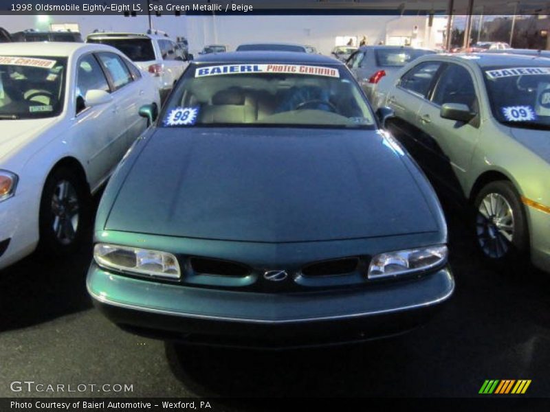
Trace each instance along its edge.
<path fill-rule="evenodd" d="M 504 196 L 487 194 L 478 207 L 476 234 L 479 246 L 489 258 L 503 258 L 514 239 L 514 213 Z"/>

